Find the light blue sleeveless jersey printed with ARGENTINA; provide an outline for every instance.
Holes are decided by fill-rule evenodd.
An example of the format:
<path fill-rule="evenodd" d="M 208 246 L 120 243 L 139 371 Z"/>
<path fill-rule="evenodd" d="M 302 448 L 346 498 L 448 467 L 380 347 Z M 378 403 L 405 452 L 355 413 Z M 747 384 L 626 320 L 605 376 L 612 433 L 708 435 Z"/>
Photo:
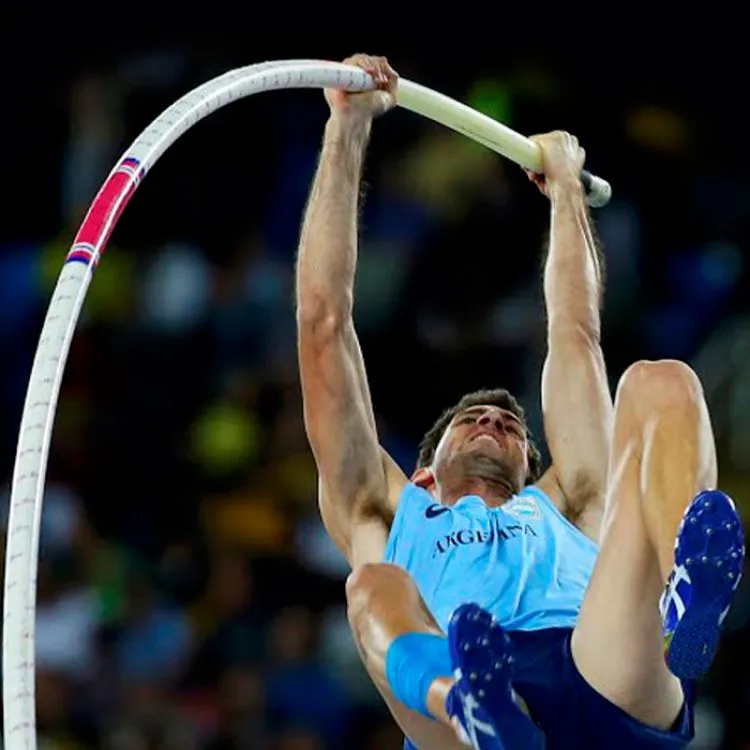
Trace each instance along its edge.
<path fill-rule="evenodd" d="M 541 630 L 575 625 L 597 553 L 536 487 L 490 508 L 476 495 L 439 505 L 407 484 L 385 561 L 411 574 L 443 630 L 467 602 L 506 630 Z"/>

